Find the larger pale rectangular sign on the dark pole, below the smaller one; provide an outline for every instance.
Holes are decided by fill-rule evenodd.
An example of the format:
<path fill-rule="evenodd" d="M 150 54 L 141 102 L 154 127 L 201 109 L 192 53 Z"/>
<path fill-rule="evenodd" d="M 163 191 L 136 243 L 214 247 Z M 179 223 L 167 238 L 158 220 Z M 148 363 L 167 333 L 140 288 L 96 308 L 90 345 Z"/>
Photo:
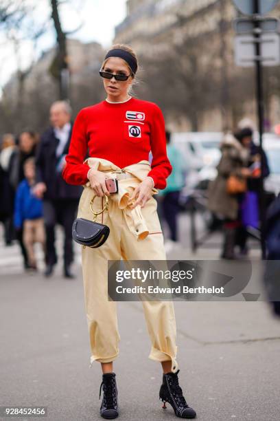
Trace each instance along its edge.
<path fill-rule="evenodd" d="M 255 44 L 260 44 L 260 55 L 256 57 Z M 235 36 L 235 63 L 237 66 L 252 67 L 256 60 L 263 66 L 277 66 L 280 64 L 279 34 L 261 34 L 259 39 L 249 34 Z"/>

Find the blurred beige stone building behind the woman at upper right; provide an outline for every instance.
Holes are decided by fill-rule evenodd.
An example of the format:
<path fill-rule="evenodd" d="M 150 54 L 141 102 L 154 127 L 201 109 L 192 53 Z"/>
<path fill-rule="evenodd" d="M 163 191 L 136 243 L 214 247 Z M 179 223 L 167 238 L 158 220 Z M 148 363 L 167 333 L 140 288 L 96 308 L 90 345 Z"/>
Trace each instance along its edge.
<path fill-rule="evenodd" d="M 279 11 L 280 6 L 270 14 L 279 16 Z M 235 127 L 244 115 L 255 120 L 254 69 L 237 67 L 234 61 L 233 21 L 237 16 L 232 0 L 127 1 L 126 19 L 115 28 L 116 43 L 132 45 L 140 61 L 149 59 L 155 63 L 170 51 L 178 50 L 179 60 L 189 55 L 190 61 L 196 61 L 189 76 L 194 76 L 194 87 L 201 85 L 201 78 L 215 84 L 214 94 L 211 89 L 205 89 L 208 109 L 201 101 L 194 100 L 197 118 L 190 118 L 185 111 L 180 124 L 177 121 L 173 129 L 216 131 Z M 207 95 L 215 96 L 215 91 L 217 98 L 207 98 Z M 268 108 L 271 123 L 276 124 L 278 111 L 275 113 L 275 107 Z M 171 125 L 172 112 L 167 114 Z"/>

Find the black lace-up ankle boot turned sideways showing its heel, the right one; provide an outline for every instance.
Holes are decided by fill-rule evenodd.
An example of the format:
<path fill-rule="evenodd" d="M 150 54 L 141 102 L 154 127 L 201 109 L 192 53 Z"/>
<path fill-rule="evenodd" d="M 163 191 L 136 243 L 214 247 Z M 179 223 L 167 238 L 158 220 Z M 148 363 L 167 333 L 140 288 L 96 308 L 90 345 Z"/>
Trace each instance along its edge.
<path fill-rule="evenodd" d="M 189 407 L 179 386 L 179 371 L 163 374 L 163 384 L 159 391 L 159 398 L 163 401 L 163 409 L 166 409 L 165 402 L 170 403 L 177 417 L 196 418 L 196 411 Z"/>

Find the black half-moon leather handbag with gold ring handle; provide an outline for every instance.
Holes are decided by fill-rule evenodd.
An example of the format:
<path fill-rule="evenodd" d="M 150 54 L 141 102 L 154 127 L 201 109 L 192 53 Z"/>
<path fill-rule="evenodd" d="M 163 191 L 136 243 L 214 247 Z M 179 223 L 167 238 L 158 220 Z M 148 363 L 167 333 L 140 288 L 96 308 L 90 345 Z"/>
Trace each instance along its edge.
<path fill-rule="evenodd" d="M 91 212 L 93 213 L 93 221 L 84 218 L 77 218 L 72 226 L 72 238 L 76 243 L 82 244 L 83 247 L 97 248 L 105 243 L 110 234 L 110 228 L 104 224 L 99 224 L 96 221 L 98 215 L 108 210 L 108 197 L 105 195 L 104 208 L 100 212 L 93 210 L 93 200 L 91 199 Z"/>

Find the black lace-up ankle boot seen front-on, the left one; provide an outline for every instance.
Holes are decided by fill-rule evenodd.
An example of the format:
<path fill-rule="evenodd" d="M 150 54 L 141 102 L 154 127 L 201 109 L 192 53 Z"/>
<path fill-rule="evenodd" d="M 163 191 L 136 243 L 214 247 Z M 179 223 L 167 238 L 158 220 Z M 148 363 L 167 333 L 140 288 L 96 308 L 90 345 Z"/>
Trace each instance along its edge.
<path fill-rule="evenodd" d="M 103 399 L 100 407 L 100 415 L 103 418 L 110 420 L 117 418 L 117 415 L 119 415 L 117 411 L 117 383 L 115 376 L 115 373 L 103 374 L 102 383 L 100 385 L 100 396 L 103 385 Z"/>

